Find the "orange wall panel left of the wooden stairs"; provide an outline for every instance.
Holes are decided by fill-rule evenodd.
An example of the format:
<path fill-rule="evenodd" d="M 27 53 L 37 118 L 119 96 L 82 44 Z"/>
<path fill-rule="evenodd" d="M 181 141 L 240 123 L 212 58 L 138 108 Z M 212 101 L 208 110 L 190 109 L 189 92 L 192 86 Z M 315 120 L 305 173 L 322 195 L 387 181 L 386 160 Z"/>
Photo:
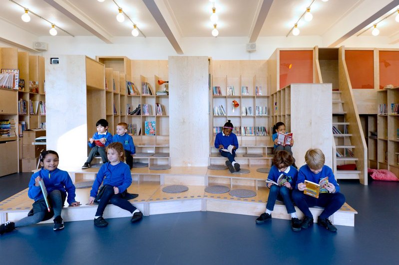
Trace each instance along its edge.
<path fill-rule="evenodd" d="M 280 88 L 292 83 L 313 83 L 313 50 L 280 51 Z"/>

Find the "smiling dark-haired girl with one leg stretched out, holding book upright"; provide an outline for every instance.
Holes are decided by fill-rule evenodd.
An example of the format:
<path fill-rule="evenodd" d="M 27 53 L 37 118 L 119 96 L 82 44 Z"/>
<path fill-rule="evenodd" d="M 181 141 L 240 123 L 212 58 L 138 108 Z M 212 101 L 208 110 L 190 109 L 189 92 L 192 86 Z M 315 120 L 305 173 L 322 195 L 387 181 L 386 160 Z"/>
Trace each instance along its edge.
<path fill-rule="evenodd" d="M 37 224 L 41 221 L 54 218 L 54 231 L 64 228 L 61 218 L 61 210 L 64 205 L 66 194 L 68 194 L 68 204 L 70 206 L 78 206 L 79 202 L 75 201 L 75 186 L 72 183 L 68 172 L 58 169 L 58 154 L 55 151 L 42 151 L 40 154 L 40 165 L 42 168 L 34 173 L 29 181 L 28 196 L 34 200 L 33 208 L 28 216 L 19 221 L 8 222 L 0 226 L 0 235 L 11 232 L 14 228 Z M 43 189 L 47 193 L 47 203 L 50 211 L 48 211 L 47 203 L 43 197 L 40 182 L 44 183 Z"/>

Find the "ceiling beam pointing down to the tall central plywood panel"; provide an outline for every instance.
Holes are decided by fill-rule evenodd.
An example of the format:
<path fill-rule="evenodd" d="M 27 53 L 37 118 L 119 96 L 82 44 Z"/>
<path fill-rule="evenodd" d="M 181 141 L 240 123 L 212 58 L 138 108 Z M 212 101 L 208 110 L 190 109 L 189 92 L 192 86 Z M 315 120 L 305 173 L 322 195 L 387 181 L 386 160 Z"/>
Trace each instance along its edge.
<path fill-rule="evenodd" d="M 181 36 L 163 0 L 143 0 L 177 54 L 183 54 L 179 44 Z"/>

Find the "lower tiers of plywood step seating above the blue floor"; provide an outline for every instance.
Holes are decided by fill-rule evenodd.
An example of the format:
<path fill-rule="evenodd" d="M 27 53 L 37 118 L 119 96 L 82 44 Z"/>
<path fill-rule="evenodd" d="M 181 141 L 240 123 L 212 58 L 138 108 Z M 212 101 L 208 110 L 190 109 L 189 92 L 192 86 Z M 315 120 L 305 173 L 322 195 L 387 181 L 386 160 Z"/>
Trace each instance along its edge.
<path fill-rule="evenodd" d="M 130 200 L 130 202 L 144 216 L 192 211 L 213 211 L 256 217 L 265 211 L 269 189 L 264 184 L 267 174 L 256 172 L 254 168 L 250 169 L 251 173 L 243 175 L 231 174 L 228 170 L 220 170 L 217 173 L 215 172 L 217 170 L 208 170 L 206 167 L 173 167 L 163 171 L 149 170 L 148 168 L 134 169 L 132 171 L 133 183 L 128 191 L 130 193 L 137 193 L 139 196 Z M 84 172 L 84 174 L 87 173 L 89 176 L 92 176 L 94 173 L 93 169 L 86 169 Z M 86 179 L 86 177 L 83 176 L 83 179 Z M 229 193 L 211 194 L 205 192 L 207 184 L 214 185 L 219 183 L 227 186 L 230 185 L 231 189 L 250 189 L 256 191 L 257 195 L 252 198 L 236 198 L 230 196 Z M 162 192 L 163 187 L 174 184 L 186 185 L 189 190 L 174 194 Z M 64 207 L 62 217 L 65 222 L 92 220 L 94 218 L 97 205 L 87 205 L 89 192 L 90 188 L 76 189 L 76 200 L 81 205 L 79 207 Z M 0 223 L 15 221 L 25 217 L 32 203 L 33 201 L 27 197 L 27 189 L 0 202 Z M 311 212 L 316 218 L 316 222 L 322 209 L 312 208 Z M 297 213 L 299 217 L 302 217 L 302 213 L 298 209 Z M 357 212 L 348 204 L 345 204 L 330 219 L 335 225 L 354 226 L 355 214 Z M 104 218 L 130 216 L 129 212 L 113 205 L 108 205 L 104 212 Z M 281 203 L 276 203 L 273 218 L 291 219 L 290 215 L 287 214 L 285 206 Z M 52 220 L 46 222 L 51 223 Z"/>

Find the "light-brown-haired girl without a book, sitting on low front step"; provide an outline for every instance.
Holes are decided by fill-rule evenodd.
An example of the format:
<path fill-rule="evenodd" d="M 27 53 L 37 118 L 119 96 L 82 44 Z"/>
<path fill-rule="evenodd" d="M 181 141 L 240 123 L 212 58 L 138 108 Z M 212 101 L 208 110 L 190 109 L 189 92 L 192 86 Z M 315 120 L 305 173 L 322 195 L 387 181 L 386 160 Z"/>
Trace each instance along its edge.
<path fill-rule="evenodd" d="M 123 163 L 125 153 L 119 142 L 111 143 L 106 147 L 108 162 L 103 164 L 90 191 L 89 204 L 98 201 L 97 212 L 94 217 L 94 225 L 106 227 L 108 222 L 102 217 L 108 202 L 133 214 L 130 222 L 136 222 L 143 214 L 129 203 L 125 197 L 127 188 L 132 183 L 132 176 L 128 165 Z M 103 186 L 100 190 L 101 183 Z"/>

